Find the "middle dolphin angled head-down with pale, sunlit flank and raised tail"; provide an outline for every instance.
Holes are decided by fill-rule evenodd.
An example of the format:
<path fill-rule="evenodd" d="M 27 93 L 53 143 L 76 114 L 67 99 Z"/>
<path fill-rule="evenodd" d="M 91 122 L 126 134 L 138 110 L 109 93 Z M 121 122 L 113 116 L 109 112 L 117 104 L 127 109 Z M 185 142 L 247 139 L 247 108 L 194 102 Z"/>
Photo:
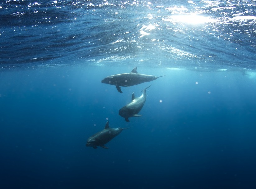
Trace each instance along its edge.
<path fill-rule="evenodd" d="M 151 85 L 150 85 L 151 86 Z M 147 88 L 149 88 L 150 86 L 148 86 Z M 146 101 L 146 90 L 147 88 L 145 88 L 142 93 L 142 95 L 140 97 L 135 98 L 134 92 L 132 94 L 132 101 L 130 103 L 128 103 L 127 105 L 123 106 L 123 108 L 121 108 L 119 110 L 119 115 L 121 115 L 122 117 L 124 117 L 125 121 L 129 122 L 129 117 L 139 117 L 142 115 L 138 115 L 139 111 L 142 109 L 145 101 Z"/>

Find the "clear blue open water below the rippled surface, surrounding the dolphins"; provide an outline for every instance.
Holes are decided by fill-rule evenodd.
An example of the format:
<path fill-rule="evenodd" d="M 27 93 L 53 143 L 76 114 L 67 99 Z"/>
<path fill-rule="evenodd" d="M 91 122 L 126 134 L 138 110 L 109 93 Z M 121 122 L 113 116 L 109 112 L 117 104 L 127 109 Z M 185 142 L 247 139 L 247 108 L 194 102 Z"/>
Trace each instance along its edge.
<path fill-rule="evenodd" d="M 122 87 L 123 94 L 100 83 L 126 69 L 133 67 L 1 73 L 1 187 L 255 187 L 255 79 L 143 68 L 166 76 Z M 142 117 L 125 122 L 118 110 L 150 84 Z M 106 119 L 110 127 L 132 128 L 107 143 L 109 149 L 86 147 Z"/>

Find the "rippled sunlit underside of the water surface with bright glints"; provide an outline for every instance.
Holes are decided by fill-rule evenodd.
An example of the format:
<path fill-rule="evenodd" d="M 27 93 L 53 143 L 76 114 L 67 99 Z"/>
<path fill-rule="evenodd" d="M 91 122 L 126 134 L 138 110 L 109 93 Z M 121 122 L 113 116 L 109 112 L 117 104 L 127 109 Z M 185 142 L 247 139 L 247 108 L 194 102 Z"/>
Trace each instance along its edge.
<path fill-rule="evenodd" d="M 2 64 L 255 68 L 255 1 L 2 1 Z"/>

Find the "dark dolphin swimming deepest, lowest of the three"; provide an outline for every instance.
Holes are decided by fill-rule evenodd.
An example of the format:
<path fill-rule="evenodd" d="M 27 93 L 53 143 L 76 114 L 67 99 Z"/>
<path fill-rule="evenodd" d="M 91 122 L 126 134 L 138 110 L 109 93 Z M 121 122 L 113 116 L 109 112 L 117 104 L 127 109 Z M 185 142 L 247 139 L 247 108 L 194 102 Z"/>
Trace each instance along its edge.
<path fill-rule="evenodd" d="M 114 137 L 119 135 L 119 133 L 121 133 L 123 129 L 127 128 L 110 128 L 109 121 L 107 121 L 105 129 L 89 137 L 86 146 L 91 146 L 94 149 L 96 149 L 97 146 L 108 149 L 108 147 L 104 146 L 104 144 L 108 143 Z"/>

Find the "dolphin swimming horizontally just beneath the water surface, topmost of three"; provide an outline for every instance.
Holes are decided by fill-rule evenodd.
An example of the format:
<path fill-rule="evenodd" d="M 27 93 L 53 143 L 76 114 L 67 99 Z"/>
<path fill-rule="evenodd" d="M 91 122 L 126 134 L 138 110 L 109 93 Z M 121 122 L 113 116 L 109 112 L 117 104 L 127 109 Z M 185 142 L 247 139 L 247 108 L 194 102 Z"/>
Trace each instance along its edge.
<path fill-rule="evenodd" d="M 154 75 L 139 74 L 137 72 L 137 67 L 135 67 L 135 68 L 133 68 L 131 73 L 110 75 L 110 76 L 104 78 L 101 81 L 101 83 L 115 85 L 118 92 L 123 93 L 121 91 L 121 87 L 130 87 L 133 85 L 150 82 L 150 81 L 156 80 L 157 78 L 160 78 L 163 76 L 164 75 L 156 77 Z"/>

